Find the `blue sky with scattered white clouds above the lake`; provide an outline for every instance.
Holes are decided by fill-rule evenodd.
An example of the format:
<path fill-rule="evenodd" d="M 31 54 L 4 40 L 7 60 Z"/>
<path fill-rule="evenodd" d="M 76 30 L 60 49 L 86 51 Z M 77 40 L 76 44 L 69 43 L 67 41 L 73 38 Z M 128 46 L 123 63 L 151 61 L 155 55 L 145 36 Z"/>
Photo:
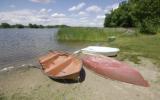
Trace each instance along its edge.
<path fill-rule="evenodd" d="M 0 23 L 102 27 L 123 0 L 1 0 Z"/>

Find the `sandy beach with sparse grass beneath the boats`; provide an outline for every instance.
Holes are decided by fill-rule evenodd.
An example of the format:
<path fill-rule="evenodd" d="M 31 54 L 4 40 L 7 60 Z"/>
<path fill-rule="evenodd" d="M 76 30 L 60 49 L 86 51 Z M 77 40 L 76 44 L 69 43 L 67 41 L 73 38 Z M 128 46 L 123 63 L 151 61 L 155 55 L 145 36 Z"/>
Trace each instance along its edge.
<path fill-rule="evenodd" d="M 140 64 L 124 62 L 141 72 L 148 88 L 105 79 L 85 67 L 83 82 L 58 82 L 26 65 L 0 72 L 0 100 L 159 100 L 160 73 L 152 60 L 140 59 Z"/>

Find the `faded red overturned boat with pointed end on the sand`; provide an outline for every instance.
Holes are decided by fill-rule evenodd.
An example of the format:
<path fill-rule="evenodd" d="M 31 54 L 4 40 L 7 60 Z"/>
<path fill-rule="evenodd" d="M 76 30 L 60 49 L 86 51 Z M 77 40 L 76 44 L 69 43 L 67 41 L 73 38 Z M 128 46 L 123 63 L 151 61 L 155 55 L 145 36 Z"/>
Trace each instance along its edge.
<path fill-rule="evenodd" d="M 105 57 L 87 55 L 83 57 L 83 64 L 94 72 L 106 78 L 118 80 L 126 83 L 148 87 L 149 84 L 142 75 L 129 65 L 118 60 Z"/>

